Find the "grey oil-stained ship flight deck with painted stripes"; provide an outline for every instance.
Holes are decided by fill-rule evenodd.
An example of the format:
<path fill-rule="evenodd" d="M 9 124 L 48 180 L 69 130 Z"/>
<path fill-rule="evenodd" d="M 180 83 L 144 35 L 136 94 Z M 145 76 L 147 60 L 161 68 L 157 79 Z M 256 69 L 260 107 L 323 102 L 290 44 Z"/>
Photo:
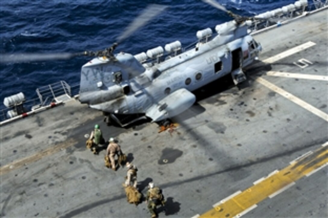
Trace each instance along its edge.
<path fill-rule="evenodd" d="M 327 217 L 327 31 L 323 9 L 254 35 L 249 84 L 198 90 L 172 132 L 105 126 L 74 99 L 1 126 L 1 216 L 150 217 L 126 201 L 126 168 L 85 148 L 98 123 L 138 167 L 138 189 L 163 189 L 160 217 Z"/>

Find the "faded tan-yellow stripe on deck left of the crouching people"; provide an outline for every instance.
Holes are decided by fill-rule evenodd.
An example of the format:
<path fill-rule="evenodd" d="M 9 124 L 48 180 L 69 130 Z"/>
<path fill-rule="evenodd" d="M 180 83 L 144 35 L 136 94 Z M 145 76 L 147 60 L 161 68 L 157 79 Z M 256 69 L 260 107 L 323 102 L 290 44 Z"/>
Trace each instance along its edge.
<path fill-rule="evenodd" d="M 7 164 L 7 165 L 1 167 L 0 168 L 0 175 L 8 173 L 12 170 L 18 169 L 22 166 L 25 166 L 26 164 L 30 164 L 32 162 L 38 161 L 43 157 L 46 157 L 46 156 L 49 156 L 51 154 L 57 153 L 57 152 L 61 151 L 62 149 L 68 148 L 68 147 L 70 147 L 70 146 L 72 146 L 76 143 L 77 142 L 75 140 L 69 139 L 69 140 L 67 140 L 63 143 L 60 143 L 60 144 L 55 145 L 51 148 L 48 148 L 46 150 L 43 150 L 43 151 L 38 152 L 36 154 L 33 154 L 29 157 L 25 157 L 25 158 L 22 158 L 20 160 L 16 160 L 16 161 L 14 161 L 10 164 Z"/>

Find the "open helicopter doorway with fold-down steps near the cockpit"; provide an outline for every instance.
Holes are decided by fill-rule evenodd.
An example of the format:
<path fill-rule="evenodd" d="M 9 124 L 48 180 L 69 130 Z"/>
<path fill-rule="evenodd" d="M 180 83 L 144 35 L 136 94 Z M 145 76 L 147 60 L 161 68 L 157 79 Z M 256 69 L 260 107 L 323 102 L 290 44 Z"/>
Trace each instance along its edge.
<path fill-rule="evenodd" d="M 241 69 L 241 64 L 242 64 L 242 52 L 241 48 L 237 48 L 231 52 L 232 56 L 232 66 L 231 66 L 231 76 L 232 79 L 237 85 L 240 82 L 243 82 L 246 80 L 246 76 L 243 73 Z"/>

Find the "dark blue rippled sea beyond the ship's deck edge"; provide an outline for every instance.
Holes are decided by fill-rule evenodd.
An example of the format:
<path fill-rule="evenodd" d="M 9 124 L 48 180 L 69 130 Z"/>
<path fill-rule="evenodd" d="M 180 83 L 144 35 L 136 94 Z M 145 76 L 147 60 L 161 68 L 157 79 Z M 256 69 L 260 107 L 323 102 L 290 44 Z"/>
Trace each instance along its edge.
<path fill-rule="evenodd" d="M 295 0 L 217 0 L 228 10 L 253 16 Z M 197 40 L 197 30 L 231 20 L 200 0 L 10 0 L 0 2 L 0 52 L 57 53 L 101 50 L 118 37 L 148 4 L 169 6 L 116 48 L 131 54 L 179 40 Z M 79 83 L 80 68 L 91 58 L 0 65 L 0 108 L 7 96 L 23 92 L 37 98 L 36 88 L 60 80 Z"/>

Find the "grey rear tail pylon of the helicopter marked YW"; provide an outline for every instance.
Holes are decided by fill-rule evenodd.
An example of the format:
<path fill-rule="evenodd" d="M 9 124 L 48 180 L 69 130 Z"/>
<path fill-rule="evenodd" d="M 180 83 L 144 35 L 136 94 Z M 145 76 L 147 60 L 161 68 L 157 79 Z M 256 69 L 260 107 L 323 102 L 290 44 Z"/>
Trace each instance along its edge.
<path fill-rule="evenodd" d="M 140 75 L 145 68 L 128 53 L 115 57 L 97 57 L 81 69 L 80 101 L 100 104 L 128 94 L 129 79 Z"/>

